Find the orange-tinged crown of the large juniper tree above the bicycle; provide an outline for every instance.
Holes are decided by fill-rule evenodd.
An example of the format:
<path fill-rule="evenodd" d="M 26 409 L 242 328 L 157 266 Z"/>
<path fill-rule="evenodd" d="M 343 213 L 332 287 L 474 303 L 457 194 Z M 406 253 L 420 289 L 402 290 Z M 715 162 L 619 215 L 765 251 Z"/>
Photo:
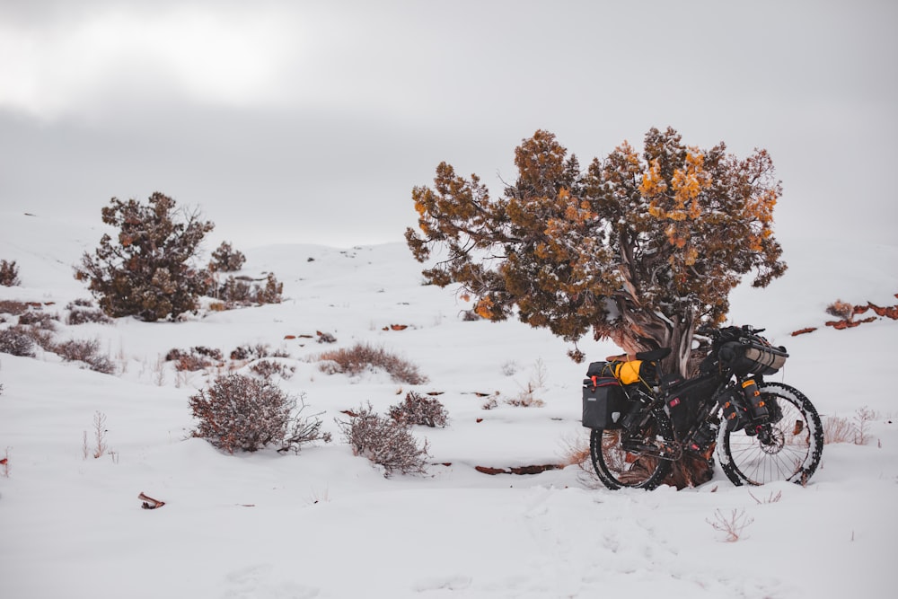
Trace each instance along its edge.
<path fill-rule="evenodd" d="M 763 287 L 786 269 L 772 234 L 781 185 L 764 150 L 739 159 L 652 128 L 642 154 L 625 142 L 581 171 L 539 130 L 515 165 L 501 198 L 447 163 L 432 188 L 412 190 L 409 248 L 421 262 L 445 250 L 425 277 L 459 284 L 485 318 L 516 313 L 575 344 L 592 331 L 628 352 L 672 347 L 666 370 L 689 374 L 696 328 L 724 321 L 741 278 Z"/>

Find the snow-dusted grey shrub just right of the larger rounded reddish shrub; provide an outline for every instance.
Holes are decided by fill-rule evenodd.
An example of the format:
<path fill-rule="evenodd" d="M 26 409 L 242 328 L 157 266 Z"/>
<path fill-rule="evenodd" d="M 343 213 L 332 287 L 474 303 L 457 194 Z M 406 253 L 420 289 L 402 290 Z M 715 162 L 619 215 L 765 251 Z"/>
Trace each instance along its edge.
<path fill-rule="evenodd" d="M 337 424 L 352 453 L 383 466 L 383 476 L 389 478 L 395 471 L 427 473 L 427 441 L 418 446 L 408 425 L 378 416 L 370 403 L 352 412 L 348 420 L 338 418 Z"/>

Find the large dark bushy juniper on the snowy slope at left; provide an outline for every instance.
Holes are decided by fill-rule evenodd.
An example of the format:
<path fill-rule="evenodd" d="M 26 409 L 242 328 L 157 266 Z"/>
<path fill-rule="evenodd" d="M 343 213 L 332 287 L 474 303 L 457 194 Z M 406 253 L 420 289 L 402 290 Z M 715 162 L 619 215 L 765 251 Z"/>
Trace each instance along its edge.
<path fill-rule="evenodd" d="M 93 255 L 84 252 L 75 277 L 89 283 L 103 312 L 154 322 L 196 310 L 208 273 L 192 261 L 215 225 L 198 212 L 176 211 L 175 201 L 159 192 L 148 205 L 112 198 L 102 219 L 119 234 L 115 240 L 104 234 Z"/>

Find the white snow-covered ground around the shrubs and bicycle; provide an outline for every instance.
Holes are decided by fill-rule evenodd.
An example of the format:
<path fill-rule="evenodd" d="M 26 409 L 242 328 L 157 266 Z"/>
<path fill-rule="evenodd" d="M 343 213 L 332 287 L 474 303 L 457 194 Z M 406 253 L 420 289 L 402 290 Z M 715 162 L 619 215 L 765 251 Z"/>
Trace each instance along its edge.
<path fill-rule="evenodd" d="M 98 374 L 40 349 L 0 354 L 0 597 L 894 596 L 898 322 L 833 330 L 823 310 L 839 298 L 895 304 L 898 247 L 780 234 L 786 277 L 732 298 L 734 323 L 766 326 L 792 356 L 772 380 L 806 392 L 824 420 L 863 419 L 866 445 L 826 445 L 806 488 L 736 488 L 718 471 L 698 489 L 612 492 L 576 465 L 475 470 L 557 464 L 582 444 L 585 365 L 545 330 L 463 321 L 471 304 L 423 286 L 401 243 L 238 244 L 246 272 L 284 282 L 283 304 L 66 326 L 66 304 L 89 297 L 71 267 L 96 247 L 100 225 L 0 216 L 0 259 L 15 260 L 22 279 L 0 287 L 0 300 L 43 304 L 62 318 L 58 340 L 99 339 L 117 368 Z M 0 328 L 15 318 L 6 321 Z M 820 329 L 789 335 L 811 326 Z M 337 343 L 317 343 L 316 331 Z M 328 375 L 313 359 L 357 342 L 409 359 L 429 382 Z M 279 384 L 304 396 L 305 415 L 321 414 L 332 443 L 228 455 L 190 437 L 188 398 L 209 378 L 162 358 L 255 344 L 289 355 L 295 374 Z M 580 347 L 587 360 L 617 351 Z M 540 379 L 544 406 L 505 403 Z M 415 428 L 432 454 L 426 476 L 384 478 L 352 454 L 335 418 L 368 401 L 385 413 L 411 390 L 442 392 L 450 424 Z M 482 393 L 497 407 L 484 410 Z M 85 458 L 98 412 L 110 451 Z M 141 492 L 166 505 L 141 509 Z M 712 524 L 734 514 L 745 525 L 726 542 Z"/>

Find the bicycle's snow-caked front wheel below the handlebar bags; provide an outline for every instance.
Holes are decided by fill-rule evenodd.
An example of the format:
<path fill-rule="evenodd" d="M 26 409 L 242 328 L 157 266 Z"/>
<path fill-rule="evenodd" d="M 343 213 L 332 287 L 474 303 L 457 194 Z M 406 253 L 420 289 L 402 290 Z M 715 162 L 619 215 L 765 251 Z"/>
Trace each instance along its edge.
<path fill-rule="evenodd" d="M 763 383 L 765 402 L 776 403 L 778 421 L 765 424 L 757 435 L 731 433 L 720 427 L 718 458 L 726 478 L 736 486 L 788 480 L 804 485 L 823 454 L 823 425 L 804 393 L 782 383 Z"/>

